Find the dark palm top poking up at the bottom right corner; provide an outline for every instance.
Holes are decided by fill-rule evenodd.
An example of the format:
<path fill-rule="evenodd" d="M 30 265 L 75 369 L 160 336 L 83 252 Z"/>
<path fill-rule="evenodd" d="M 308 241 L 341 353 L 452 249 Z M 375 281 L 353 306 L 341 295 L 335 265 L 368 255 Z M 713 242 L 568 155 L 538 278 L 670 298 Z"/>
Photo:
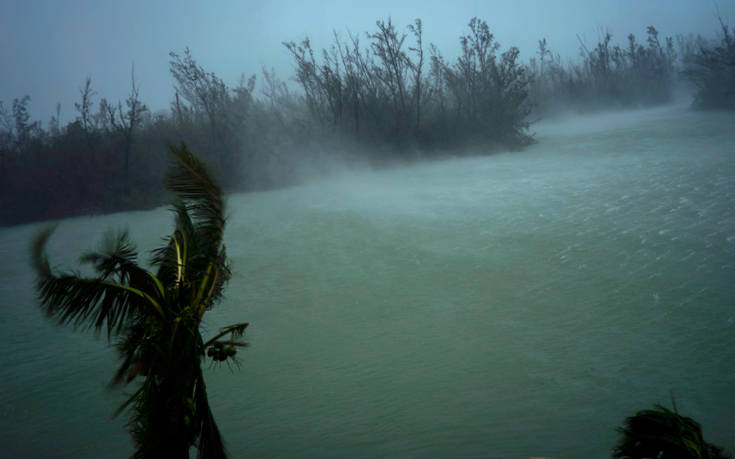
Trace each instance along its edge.
<path fill-rule="evenodd" d="M 613 450 L 619 459 L 727 459 L 722 448 L 704 441 L 702 427 L 661 405 L 626 418 Z"/>

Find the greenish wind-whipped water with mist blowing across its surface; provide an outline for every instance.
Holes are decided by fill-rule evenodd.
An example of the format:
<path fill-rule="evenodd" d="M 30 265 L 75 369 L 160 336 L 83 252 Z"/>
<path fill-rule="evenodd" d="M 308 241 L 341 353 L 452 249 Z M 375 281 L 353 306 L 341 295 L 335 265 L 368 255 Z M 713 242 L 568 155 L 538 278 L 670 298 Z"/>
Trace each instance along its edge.
<path fill-rule="evenodd" d="M 251 323 L 208 389 L 233 457 L 609 457 L 654 402 L 735 451 L 735 115 L 683 106 L 542 122 L 522 152 L 234 195 L 210 331 Z M 481 153 L 481 152 L 478 152 Z M 3 455 L 122 457 L 113 349 L 35 304 L 0 228 Z M 52 265 L 108 227 L 143 256 L 163 208 L 68 219 Z"/>

